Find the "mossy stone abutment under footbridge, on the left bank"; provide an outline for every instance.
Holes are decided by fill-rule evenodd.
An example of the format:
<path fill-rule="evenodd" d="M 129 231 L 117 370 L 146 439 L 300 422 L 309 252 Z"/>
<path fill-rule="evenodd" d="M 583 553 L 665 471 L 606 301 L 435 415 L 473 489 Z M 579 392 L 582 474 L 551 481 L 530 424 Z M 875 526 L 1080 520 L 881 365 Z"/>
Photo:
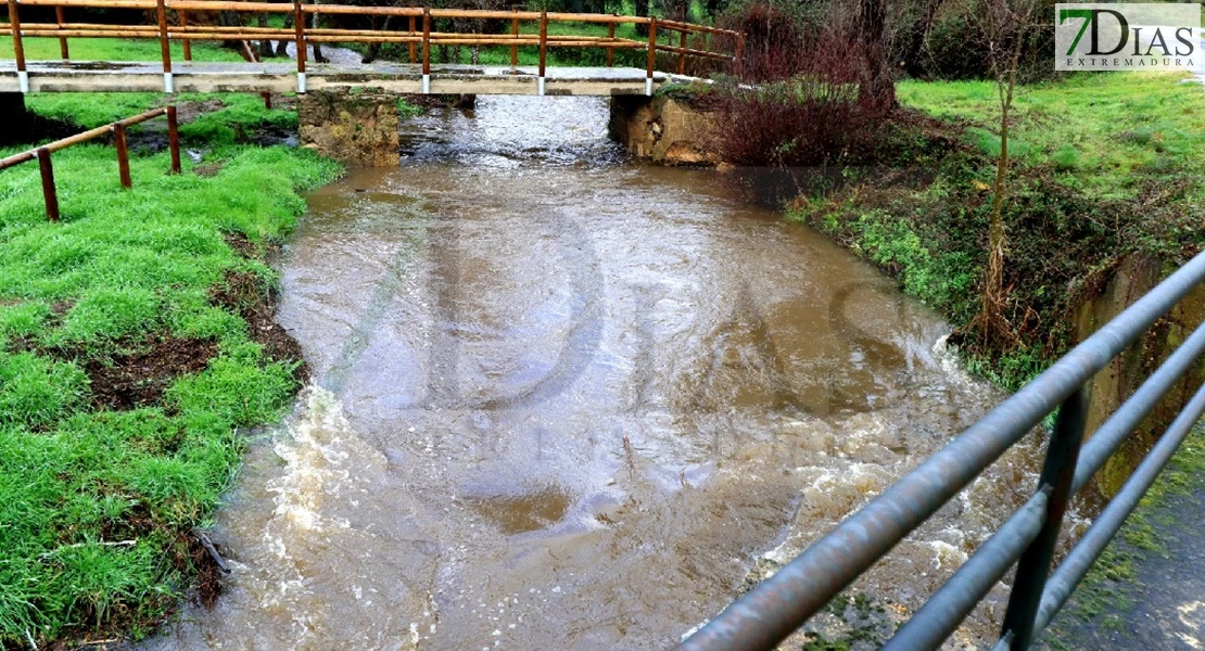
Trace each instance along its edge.
<path fill-rule="evenodd" d="M 358 167 L 398 165 L 398 97 L 380 89 L 339 89 L 299 95 L 302 147 Z"/>

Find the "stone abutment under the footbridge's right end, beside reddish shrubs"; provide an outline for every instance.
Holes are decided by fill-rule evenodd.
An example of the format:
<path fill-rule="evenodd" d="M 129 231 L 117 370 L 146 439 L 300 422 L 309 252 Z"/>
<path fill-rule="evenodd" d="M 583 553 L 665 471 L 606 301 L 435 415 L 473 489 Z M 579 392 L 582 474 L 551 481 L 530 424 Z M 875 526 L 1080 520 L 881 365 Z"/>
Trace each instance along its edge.
<path fill-rule="evenodd" d="M 665 165 L 715 166 L 707 150 L 712 114 L 674 97 L 611 99 L 611 137 L 633 154 Z"/>

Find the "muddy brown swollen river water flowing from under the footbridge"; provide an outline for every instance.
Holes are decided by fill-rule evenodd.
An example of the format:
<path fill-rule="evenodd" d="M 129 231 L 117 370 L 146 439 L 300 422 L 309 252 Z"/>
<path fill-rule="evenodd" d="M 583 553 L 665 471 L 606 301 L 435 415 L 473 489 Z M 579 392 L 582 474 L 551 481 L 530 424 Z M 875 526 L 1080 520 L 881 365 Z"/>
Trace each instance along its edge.
<path fill-rule="evenodd" d="M 278 319 L 316 381 L 218 514 L 227 593 L 151 646 L 664 649 L 1000 400 L 892 280 L 606 118 L 483 97 L 308 197 Z M 1031 448 L 859 588 L 916 608 Z"/>

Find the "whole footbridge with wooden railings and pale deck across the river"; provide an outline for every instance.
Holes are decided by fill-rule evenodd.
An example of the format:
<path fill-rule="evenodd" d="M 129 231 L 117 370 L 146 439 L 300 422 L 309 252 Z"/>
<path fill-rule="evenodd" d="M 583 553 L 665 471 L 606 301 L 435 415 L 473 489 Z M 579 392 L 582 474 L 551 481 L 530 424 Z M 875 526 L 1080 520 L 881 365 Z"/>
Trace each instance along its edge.
<path fill-rule="evenodd" d="M 10 24 L 0 36 L 12 36 L 13 59 L 0 61 L 0 93 L 266 93 L 335 90 L 374 87 L 407 94 L 501 95 L 652 95 L 675 79 L 686 79 L 687 63 L 694 70 L 735 67 L 742 57 L 743 35 L 709 25 L 639 16 L 556 13 L 533 11 L 433 10 L 288 2 L 231 2 L 217 0 L 8 0 Z M 66 10 L 143 10 L 157 24 L 101 24 L 67 22 Z M 55 20 L 23 22 L 22 12 L 54 11 Z M 286 14 L 292 28 L 214 25 L 198 14 L 217 12 Z M 189 20 L 192 16 L 192 20 Z M 401 30 L 317 28 L 307 23 L 321 16 L 362 22 L 400 19 Z M 442 23 L 440 23 L 442 20 Z M 606 36 L 548 34 L 549 24 L 604 25 Z M 375 23 L 374 23 L 375 24 Z M 386 23 L 388 24 L 388 23 Z M 647 40 L 616 36 L 624 24 L 643 25 Z M 436 31 L 439 25 L 453 29 Z M 493 28 L 487 32 L 486 26 Z M 522 31 L 527 25 L 529 31 Z M 505 28 L 509 28 L 505 29 Z M 535 32 L 530 30 L 535 29 Z M 24 39 L 53 37 L 61 59 L 31 61 Z M 160 46 L 158 61 L 71 61 L 70 39 L 146 39 Z M 290 41 L 294 63 L 260 63 L 245 47 L 247 63 L 192 61 L 193 41 Z M 184 61 L 172 61 L 170 43 L 183 45 Z M 317 64 L 308 49 L 321 43 L 399 43 L 408 46 L 408 63 Z M 510 65 L 468 66 L 433 64 L 437 46 L 506 48 Z M 519 66 L 519 48 L 537 48 L 539 63 Z M 605 67 L 549 67 L 552 48 L 600 48 Z M 636 51 L 643 67 L 617 67 L 616 52 Z M 630 59 L 631 57 L 627 57 Z M 666 71 L 669 69 L 669 71 Z"/>

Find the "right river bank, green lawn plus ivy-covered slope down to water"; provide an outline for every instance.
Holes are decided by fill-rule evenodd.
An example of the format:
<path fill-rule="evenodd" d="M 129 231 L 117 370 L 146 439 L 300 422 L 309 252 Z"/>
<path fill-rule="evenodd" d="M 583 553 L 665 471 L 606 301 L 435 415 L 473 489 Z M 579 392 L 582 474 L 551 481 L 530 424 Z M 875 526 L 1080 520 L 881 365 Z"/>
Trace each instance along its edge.
<path fill-rule="evenodd" d="M 978 371 L 1003 386 L 1019 386 L 1066 350 L 1075 309 L 1125 255 L 1170 266 L 1205 241 L 1205 91 L 1178 82 L 1083 75 L 1021 89 L 1005 215 L 1016 341 L 968 347 Z M 911 168 L 905 160 L 895 173 L 851 172 L 840 189 L 800 197 L 790 214 L 965 326 L 978 309 L 1000 148 L 995 88 L 905 82 L 899 96 L 956 147 Z"/>

